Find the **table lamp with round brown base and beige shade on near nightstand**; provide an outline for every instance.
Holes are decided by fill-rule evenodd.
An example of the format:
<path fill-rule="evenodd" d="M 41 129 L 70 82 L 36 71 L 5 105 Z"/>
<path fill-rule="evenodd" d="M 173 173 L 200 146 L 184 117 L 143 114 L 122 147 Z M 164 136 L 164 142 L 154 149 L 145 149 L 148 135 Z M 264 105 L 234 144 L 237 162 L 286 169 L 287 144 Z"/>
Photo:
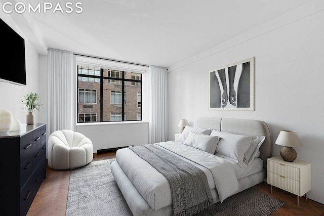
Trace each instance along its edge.
<path fill-rule="evenodd" d="M 280 155 L 288 162 L 293 162 L 297 158 L 297 152 L 293 147 L 302 147 L 295 131 L 280 131 L 275 144 L 284 146 L 280 150 Z"/>

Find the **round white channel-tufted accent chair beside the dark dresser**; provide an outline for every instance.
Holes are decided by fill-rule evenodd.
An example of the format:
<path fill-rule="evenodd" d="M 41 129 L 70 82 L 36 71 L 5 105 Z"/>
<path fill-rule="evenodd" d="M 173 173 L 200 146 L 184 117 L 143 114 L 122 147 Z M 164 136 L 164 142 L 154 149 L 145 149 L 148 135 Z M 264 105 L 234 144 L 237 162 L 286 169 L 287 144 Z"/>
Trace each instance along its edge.
<path fill-rule="evenodd" d="M 48 165 L 53 169 L 74 169 L 93 160 L 93 145 L 89 138 L 78 132 L 53 132 L 48 140 Z"/>

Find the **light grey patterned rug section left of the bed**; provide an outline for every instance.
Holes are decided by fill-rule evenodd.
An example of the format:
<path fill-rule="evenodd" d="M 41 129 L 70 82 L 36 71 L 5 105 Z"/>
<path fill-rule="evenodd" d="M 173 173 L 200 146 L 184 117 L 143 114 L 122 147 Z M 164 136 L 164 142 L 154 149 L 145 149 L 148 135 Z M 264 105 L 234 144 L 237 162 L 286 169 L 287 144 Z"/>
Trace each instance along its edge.
<path fill-rule="evenodd" d="M 66 216 L 132 215 L 111 174 L 111 161 L 93 161 L 71 170 Z"/>

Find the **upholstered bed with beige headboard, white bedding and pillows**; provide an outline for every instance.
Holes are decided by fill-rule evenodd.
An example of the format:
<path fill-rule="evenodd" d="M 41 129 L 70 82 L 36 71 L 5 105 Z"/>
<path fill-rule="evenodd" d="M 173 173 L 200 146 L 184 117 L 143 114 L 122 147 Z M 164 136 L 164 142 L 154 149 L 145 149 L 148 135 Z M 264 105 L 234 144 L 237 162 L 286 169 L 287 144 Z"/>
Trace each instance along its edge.
<path fill-rule="evenodd" d="M 203 171 L 203 182 L 209 190 L 206 196 L 212 196 L 214 203 L 264 181 L 267 158 L 272 153 L 265 122 L 219 117 L 197 117 L 176 141 L 142 145 L 141 150 L 119 149 L 111 172 L 134 215 L 174 215 L 176 206 L 171 192 L 174 187 L 165 174 L 157 171 L 161 167 L 153 167 L 155 157 L 145 159 L 146 153 L 140 154 L 145 146 L 154 146 L 158 154 L 168 152 L 168 156 Z"/>

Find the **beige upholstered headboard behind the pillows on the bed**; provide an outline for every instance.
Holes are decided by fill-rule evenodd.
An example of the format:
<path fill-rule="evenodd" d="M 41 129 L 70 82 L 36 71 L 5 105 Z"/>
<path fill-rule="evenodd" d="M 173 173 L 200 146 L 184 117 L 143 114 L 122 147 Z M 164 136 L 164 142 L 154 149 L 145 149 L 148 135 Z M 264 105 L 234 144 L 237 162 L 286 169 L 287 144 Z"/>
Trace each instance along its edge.
<path fill-rule="evenodd" d="M 260 158 L 263 164 L 272 154 L 272 141 L 268 125 L 259 120 L 219 118 L 219 117 L 197 117 L 194 126 L 201 128 L 213 128 L 221 131 L 239 135 L 265 136 L 260 147 Z"/>

